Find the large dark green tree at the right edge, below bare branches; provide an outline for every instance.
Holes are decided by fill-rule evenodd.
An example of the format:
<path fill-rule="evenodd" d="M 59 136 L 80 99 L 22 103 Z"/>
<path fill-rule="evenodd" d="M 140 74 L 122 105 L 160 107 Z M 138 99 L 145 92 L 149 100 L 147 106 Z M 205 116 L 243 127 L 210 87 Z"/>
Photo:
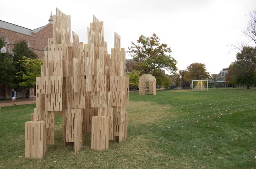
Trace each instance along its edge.
<path fill-rule="evenodd" d="M 241 52 L 236 55 L 237 61 L 229 66 L 229 73 L 225 81 L 234 84 L 246 84 L 249 89 L 251 84 L 256 83 L 256 63 L 251 56 L 256 55 L 256 49 L 245 46 Z"/>

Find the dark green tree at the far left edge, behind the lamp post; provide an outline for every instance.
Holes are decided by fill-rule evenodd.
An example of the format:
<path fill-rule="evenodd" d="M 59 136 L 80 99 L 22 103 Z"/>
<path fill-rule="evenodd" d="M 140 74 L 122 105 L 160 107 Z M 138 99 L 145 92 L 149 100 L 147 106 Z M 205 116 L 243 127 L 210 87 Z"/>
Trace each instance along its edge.
<path fill-rule="evenodd" d="M 4 46 L 3 40 L 0 38 L 0 48 Z M 13 70 L 12 56 L 8 52 L 4 55 L 3 59 L 0 60 L 0 84 L 13 85 Z"/>

